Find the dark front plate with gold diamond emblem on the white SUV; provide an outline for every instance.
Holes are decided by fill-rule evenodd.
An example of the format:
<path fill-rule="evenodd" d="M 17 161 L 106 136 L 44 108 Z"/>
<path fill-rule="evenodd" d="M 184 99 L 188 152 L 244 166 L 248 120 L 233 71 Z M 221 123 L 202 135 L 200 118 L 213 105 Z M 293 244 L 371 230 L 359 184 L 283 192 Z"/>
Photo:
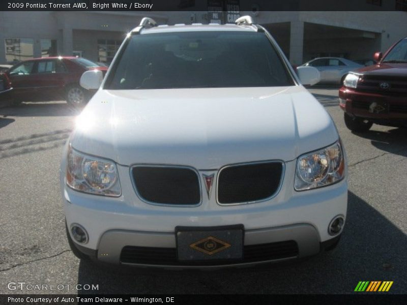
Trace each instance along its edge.
<path fill-rule="evenodd" d="M 243 225 L 177 227 L 178 260 L 240 260 L 243 258 L 243 232 Z"/>

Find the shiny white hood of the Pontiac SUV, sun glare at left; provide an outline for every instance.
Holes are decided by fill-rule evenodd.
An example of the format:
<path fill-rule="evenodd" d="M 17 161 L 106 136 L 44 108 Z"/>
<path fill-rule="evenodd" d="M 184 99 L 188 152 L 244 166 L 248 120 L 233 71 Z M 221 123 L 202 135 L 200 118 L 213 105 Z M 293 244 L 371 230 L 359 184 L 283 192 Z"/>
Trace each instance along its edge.
<path fill-rule="evenodd" d="M 302 86 L 98 90 L 77 118 L 74 149 L 122 165 L 290 161 L 338 139 Z"/>

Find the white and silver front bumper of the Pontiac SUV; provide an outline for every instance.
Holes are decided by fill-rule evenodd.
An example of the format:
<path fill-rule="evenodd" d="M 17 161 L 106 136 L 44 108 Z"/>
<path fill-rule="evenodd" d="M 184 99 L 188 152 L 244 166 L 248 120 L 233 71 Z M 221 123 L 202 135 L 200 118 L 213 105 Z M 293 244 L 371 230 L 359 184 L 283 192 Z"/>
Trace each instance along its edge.
<path fill-rule="evenodd" d="M 77 223 L 89 234 L 89 241 L 85 245 L 75 241 L 75 245 L 80 246 L 79 250 L 95 253 L 99 261 L 107 263 L 125 264 L 121 261 L 121 253 L 126 246 L 175 249 L 177 226 L 237 224 L 245 228 L 244 247 L 284 241 L 297 243 L 298 252 L 295 255 L 273 258 L 271 261 L 306 257 L 317 254 L 321 250 L 321 243 L 336 237 L 328 233 L 328 226 L 335 216 L 346 216 L 347 182 L 344 179 L 329 187 L 296 192 L 293 179 L 295 166 L 296 161 L 285 163 L 283 184 L 275 197 L 264 202 L 235 206 L 221 206 L 213 198 L 196 207 L 151 205 L 137 198 L 131 180 L 125 178 L 121 179 L 121 197 L 84 194 L 68 188 L 65 173 L 62 172 L 65 216 L 68 227 Z M 120 177 L 129 175 L 128 167 L 118 165 L 118 171 Z M 163 267 L 162 264 L 160 266 Z M 164 265 L 170 266 L 173 265 Z M 222 266 L 227 266 L 227 263 Z"/>

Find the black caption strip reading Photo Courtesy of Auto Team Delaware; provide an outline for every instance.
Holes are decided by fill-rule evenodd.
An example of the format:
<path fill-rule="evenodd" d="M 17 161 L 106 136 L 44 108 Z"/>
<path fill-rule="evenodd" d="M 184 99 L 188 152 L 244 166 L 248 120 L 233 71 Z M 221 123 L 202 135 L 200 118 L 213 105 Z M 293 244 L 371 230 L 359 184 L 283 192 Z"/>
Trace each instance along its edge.
<path fill-rule="evenodd" d="M 289 304 L 405 304 L 406 295 L 386 295 L 384 293 L 348 295 L 0 295 L 0 304 L 27 305 L 84 305 L 84 304 L 237 304 L 237 305 L 289 305 Z"/>

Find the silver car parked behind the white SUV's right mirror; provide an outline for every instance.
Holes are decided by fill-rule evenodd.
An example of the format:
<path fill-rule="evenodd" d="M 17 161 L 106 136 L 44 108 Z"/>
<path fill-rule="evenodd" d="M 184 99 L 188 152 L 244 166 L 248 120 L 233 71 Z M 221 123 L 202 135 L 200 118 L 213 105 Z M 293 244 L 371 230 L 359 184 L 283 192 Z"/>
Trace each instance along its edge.
<path fill-rule="evenodd" d="M 363 67 L 352 60 L 341 57 L 318 57 L 303 66 L 315 67 L 321 74 L 319 83 L 342 84 L 346 74 Z"/>

